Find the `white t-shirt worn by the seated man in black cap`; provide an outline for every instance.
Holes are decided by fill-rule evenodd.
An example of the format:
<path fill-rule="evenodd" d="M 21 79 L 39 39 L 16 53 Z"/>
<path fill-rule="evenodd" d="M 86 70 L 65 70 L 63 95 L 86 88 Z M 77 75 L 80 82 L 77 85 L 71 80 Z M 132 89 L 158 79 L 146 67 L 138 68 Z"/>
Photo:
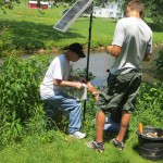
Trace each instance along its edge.
<path fill-rule="evenodd" d="M 41 100 L 53 97 L 57 92 L 66 91 L 66 87 L 54 86 L 54 79 L 68 80 L 71 65 L 64 54 L 57 57 L 50 64 L 40 85 Z"/>

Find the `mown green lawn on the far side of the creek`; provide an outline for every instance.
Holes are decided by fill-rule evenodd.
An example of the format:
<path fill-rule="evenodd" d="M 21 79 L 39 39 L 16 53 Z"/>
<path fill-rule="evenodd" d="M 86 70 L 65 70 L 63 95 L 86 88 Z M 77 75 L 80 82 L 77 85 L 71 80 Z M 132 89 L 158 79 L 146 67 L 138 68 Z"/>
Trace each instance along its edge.
<path fill-rule="evenodd" d="M 12 41 L 16 49 L 53 49 L 67 46 L 70 42 L 88 42 L 89 17 L 79 17 L 65 33 L 53 29 L 53 25 L 61 18 L 63 5 L 49 10 L 28 9 L 26 2 L 16 5 L 3 14 L 0 11 L 0 23 L 9 26 Z M 153 27 L 153 42 L 161 43 L 163 33 L 158 33 Z M 116 20 L 93 18 L 91 47 L 106 46 L 112 42 Z"/>

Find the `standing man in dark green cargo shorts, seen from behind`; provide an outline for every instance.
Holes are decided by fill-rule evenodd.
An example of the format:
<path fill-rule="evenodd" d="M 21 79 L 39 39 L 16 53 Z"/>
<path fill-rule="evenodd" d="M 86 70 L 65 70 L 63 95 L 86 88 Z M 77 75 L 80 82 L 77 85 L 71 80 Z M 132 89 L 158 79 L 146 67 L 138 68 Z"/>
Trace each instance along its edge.
<path fill-rule="evenodd" d="M 149 61 L 152 53 L 152 32 L 142 21 L 143 4 L 140 0 L 129 1 L 125 18 L 117 22 L 112 46 L 106 52 L 115 57 L 106 85 L 100 95 L 96 117 L 96 139 L 89 147 L 104 151 L 103 126 L 106 113 L 114 113 L 121 108 L 121 127 L 111 142 L 120 150 L 124 149 L 123 139 L 134 111 L 134 99 L 141 83 L 140 62 Z"/>

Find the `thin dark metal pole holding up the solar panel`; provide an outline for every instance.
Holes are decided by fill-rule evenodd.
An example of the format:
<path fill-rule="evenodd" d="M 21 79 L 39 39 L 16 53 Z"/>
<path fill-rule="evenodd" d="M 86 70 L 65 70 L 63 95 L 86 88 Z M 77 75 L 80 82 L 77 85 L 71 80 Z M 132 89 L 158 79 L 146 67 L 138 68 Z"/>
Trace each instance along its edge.
<path fill-rule="evenodd" d="M 90 43 L 91 43 L 91 25 L 92 25 L 92 8 L 93 8 L 93 2 L 91 3 L 90 7 L 90 21 L 89 21 L 89 38 L 88 38 L 88 55 L 87 55 L 87 70 L 86 70 L 86 79 L 88 80 L 88 75 L 89 75 L 89 54 L 90 54 Z M 85 122 L 85 114 L 86 114 L 86 103 L 87 101 L 84 101 L 84 122 Z"/>

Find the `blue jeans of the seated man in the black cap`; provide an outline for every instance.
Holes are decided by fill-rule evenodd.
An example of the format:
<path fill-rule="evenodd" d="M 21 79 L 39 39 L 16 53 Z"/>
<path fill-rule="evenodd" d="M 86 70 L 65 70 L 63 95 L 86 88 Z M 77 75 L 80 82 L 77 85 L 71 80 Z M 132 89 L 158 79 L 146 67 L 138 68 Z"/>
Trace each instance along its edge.
<path fill-rule="evenodd" d="M 64 92 L 59 92 L 54 97 L 50 97 L 45 101 L 45 110 L 48 116 L 51 116 L 52 112 L 58 112 L 59 109 L 68 115 L 68 133 L 73 134 L 80 129 L 82 124 L 82 103 L 77 102 L 74 98 Z"/>

